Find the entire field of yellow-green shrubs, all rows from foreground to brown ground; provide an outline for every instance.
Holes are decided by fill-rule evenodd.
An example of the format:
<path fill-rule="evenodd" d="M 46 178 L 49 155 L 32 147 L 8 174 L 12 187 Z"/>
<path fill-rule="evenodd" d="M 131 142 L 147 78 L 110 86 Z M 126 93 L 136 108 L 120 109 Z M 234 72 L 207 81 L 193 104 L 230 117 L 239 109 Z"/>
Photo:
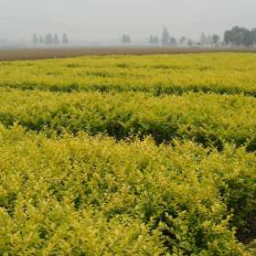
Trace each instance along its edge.
<path fill-rule="evenodd" d="M 0 62 L 0 255 L 256 255 L 256 55 Z"/>

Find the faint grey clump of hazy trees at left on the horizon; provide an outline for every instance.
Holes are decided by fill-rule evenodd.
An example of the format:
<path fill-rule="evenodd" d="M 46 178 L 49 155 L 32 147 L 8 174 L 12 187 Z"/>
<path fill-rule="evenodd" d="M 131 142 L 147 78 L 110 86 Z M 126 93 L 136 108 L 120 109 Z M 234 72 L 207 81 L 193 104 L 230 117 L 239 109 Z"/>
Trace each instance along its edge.
<path fill-rule="evenodd" d="M 62 34 L 61 39 L 59 39 L 58 34 L 52 35 L 51 33 L 48 33 L 47 35 L 43 36 L 37 36 L 37 34 L 33 35 L 32 42 L 35 45 L 59 45 L 59 44 L 68 44 L 69 38 L 66 35 L 66 33 Z"/>

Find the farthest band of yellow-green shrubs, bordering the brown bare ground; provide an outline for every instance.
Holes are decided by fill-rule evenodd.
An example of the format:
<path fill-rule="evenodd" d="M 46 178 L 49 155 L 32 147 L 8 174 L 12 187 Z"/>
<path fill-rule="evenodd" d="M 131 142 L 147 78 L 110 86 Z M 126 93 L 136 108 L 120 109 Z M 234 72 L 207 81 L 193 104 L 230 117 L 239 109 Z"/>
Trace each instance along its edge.
<path fill-rule="evenodd" d="M 50 91 L 256 95 L 255 54 L 87 57 L 0 63 L 0 86 Z"/>

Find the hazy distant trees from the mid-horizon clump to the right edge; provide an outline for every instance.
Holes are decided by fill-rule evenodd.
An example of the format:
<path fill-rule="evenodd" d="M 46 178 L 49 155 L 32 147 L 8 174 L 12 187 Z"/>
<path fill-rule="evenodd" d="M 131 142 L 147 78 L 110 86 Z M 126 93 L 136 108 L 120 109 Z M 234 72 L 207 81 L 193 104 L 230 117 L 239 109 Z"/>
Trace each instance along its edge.
<path fill-rule="evenodd" d="M 150 45 L 169 47 L 253 47 L 256 46 L 256 28 L 250 30 L 245 27 L 233 27 L 225 31 L 223 40 L 218 34 L 206 35 L 203 32 L 198 40 L 193 40 L 188 37 L 176 38 L 171 36 L 167 27 L 164 27 L 161 38 L 150 35 L 147 41 Z M 129 35 L 123 34 L 122 42 L 123 44 L 130 44 L 132 39 Z"/>

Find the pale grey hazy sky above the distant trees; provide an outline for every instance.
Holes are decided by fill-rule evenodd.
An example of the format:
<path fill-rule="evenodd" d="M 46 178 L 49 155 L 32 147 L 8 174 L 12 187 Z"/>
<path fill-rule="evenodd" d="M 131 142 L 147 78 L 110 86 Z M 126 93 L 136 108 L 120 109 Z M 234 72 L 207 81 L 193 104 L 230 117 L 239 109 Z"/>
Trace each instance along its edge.
<path fill-rule="evenodd" d="M 256 0 L 0 0 L 0 38 L 66 31 L 74 39 L 198 37 L 256 27 Z"/>

